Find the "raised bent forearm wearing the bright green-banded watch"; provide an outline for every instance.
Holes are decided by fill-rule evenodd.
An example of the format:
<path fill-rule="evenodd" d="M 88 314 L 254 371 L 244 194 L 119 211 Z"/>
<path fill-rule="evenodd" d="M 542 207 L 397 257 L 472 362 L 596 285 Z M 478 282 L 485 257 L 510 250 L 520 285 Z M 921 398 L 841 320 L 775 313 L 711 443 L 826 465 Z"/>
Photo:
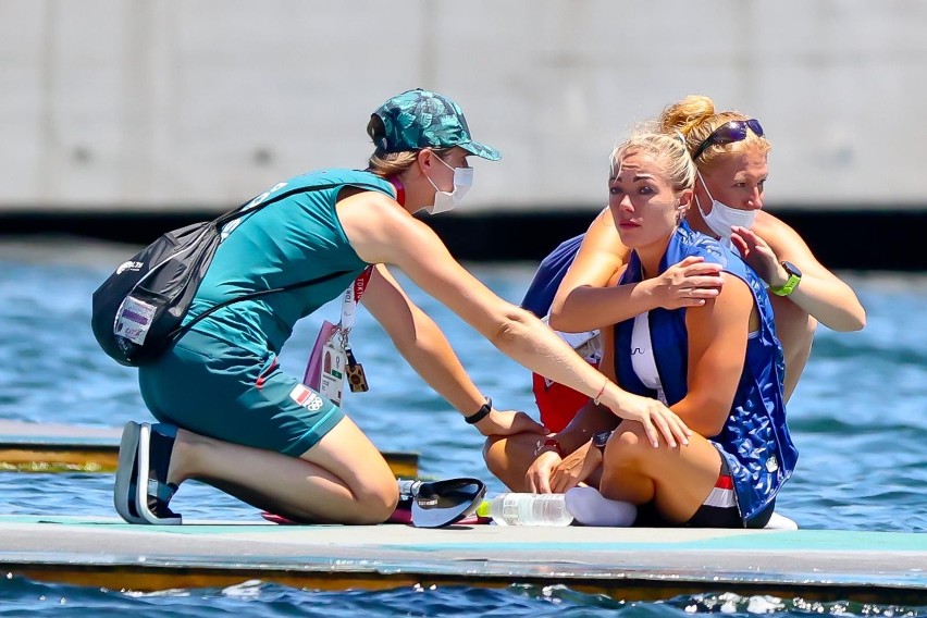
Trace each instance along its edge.
<path fill-rule="evenodd" d="M 815 258 L 790 225 L 768 212 L 759 212 L 752 230 L 734 228 L 731 237 L 744 260 L 771 286 L 789 279 L 780 262 L 802 271 L 802 282 L 789 299 L 825 326 L 858 331 L 866 325 L 866 310 L 853 289 Z"/>

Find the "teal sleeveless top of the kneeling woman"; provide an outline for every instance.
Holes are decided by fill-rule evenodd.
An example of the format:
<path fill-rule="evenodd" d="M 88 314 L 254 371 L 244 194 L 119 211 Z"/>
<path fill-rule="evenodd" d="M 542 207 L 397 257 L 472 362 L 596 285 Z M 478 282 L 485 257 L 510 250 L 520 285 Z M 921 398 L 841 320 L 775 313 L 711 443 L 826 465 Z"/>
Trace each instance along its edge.
<path fill-rule="evenodd" d="M 279 354 L 297 320 L 341 296 L 368 265 L 348 243 L 335 213 L 345 186 L 393 197 L 387 181 L 357 170 L 321 170 L 277 184 L 251 201 L 270 203 L 225 226 L 184 321 L 249 292 L 344 271 L 319 284 L 232 304 L 193 329 L 259 355 Z"/>

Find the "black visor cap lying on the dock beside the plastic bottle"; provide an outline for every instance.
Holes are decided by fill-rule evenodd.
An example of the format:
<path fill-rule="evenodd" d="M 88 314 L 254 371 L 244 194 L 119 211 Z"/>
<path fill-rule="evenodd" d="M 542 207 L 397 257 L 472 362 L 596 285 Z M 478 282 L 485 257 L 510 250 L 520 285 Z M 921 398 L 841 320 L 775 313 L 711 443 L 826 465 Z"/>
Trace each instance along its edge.
<path fill-rule="evenodd" d="M 443 528 L 473 514 L 486 495 L 479 479 L 423 482 L 412 502 L 412 526 Z"/>

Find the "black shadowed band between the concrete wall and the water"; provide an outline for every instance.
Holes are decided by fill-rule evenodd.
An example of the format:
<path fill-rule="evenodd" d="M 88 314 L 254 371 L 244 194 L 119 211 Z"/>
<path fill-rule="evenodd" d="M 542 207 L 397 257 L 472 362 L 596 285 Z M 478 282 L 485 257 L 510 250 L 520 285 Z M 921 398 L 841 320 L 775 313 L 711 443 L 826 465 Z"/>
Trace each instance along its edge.
<path fill-rule="evenodd" d="M 460 260 L 540 261 L 561 240 L 584 232 L 595 213 L 496 211 L 421 220 Z M 802 235 L 828 268 L 927 271 L 927 210 L 781 210 L 776 214 Z M 214 217 L 203 210 L 7 212 L 0 213 L 0 234 L 69 234 L 144 245 L 163 232 Z"/>

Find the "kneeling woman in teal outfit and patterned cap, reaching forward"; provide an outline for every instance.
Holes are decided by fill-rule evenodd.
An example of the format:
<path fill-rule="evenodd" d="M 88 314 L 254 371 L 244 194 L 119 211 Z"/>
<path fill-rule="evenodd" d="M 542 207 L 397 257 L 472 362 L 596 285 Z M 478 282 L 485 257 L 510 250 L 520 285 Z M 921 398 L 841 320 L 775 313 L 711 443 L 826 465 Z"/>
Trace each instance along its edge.
<path fill-rule="evenodd" d="M 161 422 L 129 422 L 123 432 L 114 503 L 127 521 L 180 523 L 169 502 L 187 479 L 301 521 L 390 517 L 398 491 L 386 461 L 332 401 L 276 362 L 295 322 L 370 264 L 362 302 L 483 435 L 544 430 L 522 412 L 493 408 L 383 264 L 401 269 L 512 359 L 639 421 L 654 446 L 688 442 L 688 428 L 668 408 L 622 391 L 539 320 L 496 297 L 412 217 L 456 206 L 472 181 L 467 157 L 499 159 L 472 140 L 456 103 L 428 90 L 403 92 L 372 114 L 368 134 L 375 146 L 368 170 L 280 183 L 256 198 L 273 203 L 225 230 L 187 320 L 246 292 L 342 274 L 215 311 L 139 370 L 145 403 Z"/>

